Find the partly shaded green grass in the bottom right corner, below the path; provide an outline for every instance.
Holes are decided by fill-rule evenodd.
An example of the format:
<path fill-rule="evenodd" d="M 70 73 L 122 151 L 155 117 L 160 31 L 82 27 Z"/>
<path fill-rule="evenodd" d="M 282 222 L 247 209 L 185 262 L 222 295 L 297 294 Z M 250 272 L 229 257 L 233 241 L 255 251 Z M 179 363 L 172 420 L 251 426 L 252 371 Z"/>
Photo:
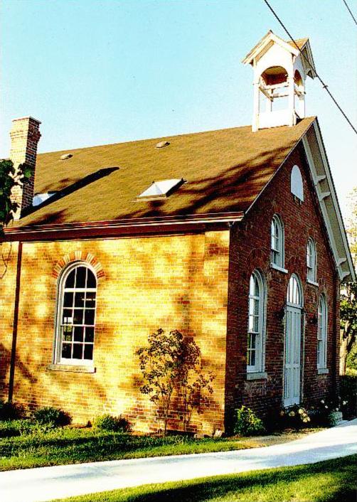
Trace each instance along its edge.
<path fill-rule="evenodd" d="M 356 502 L 357 455 L 318 464 L 107 491 L 61 502 Z"/>

